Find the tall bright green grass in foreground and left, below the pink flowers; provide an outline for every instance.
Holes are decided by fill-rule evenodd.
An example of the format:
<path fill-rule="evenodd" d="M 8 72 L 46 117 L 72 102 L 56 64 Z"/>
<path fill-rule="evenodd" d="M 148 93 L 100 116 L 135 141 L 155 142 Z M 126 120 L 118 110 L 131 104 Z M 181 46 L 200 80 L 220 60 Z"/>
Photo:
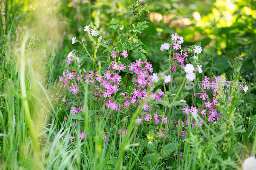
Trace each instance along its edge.
<path fill-rule="evenodd" d="M 141 129 L 135 123 L 141 107 L 135 114 L 126 117 L 120 110 L 117 115 L 104 107 L 96 110 L 102 104 L 92 101 L 87 84 L 83 84 L 84 93 L 80 102 L 88 110 L 83 111 L 83 117 L 72 116 L 65 101 L 75 103 L 76 100 L 59 90 L 57 80 L 54 80 L 54 71 L 57 72 L 66 62 L 57 63 L 53 54 L 60 48 L 62 27 L 61 24 L 53 26 L 53 23 L 59 22 L 51 19 L 55 15 L 52 8 L 47 8 L 53 2 L 40 3 L 36 4 L 36 14 L 40 16 L 38 27 L 24 32 L 18 49 L 11 46 L 12 33 L 9 32 L 2 48 L 0 169 L 241 169 L 243 159 L 249 155 L 255 156 L 254 101 L 252 96 L 243 96 L 252 100 L 250 119 L 246 120 L 242 115 L 245 105 L 239 102 L 241 99 L 235 86 L 231 91 L 231 104 L 227 104 L 225 97 L 220 104 L 222 113 L 225 113 L 221 119 L 227 123 L 209 126 L 207 119 L 195 114 L 194 117 L 203 121 L 204 128 L 199 126 L 192 129 L 188 126 L 186 138 L 181 139 L 173 132 L 176 127 L 169 122 L 165 128 L 168 135 L 163 143 L 151 140 L 154 134 L 152 125 L 147 127 L 148 130 L 145 127 Z M 40 5 L 43 8 L 39 8 Z M 49 29 L 45 29 L 45 25 Z M 44 38 L 39 46 L 36 46 L 39 40 L 33 36 L 34 33 Z M 42 60 L 44 49 L 51 57 Z M 234 70 L 232 78 L 236 82 L 240 73 L 239 68 L 235 69 L 238 70 Z M 81 74 L 80 65 L 79 71 Z M 171 107 L 166 112 L 169 118 L 178 115 L 175 112 L 178 107 L 172 104 L 181 95 L 184 81 L 174 82 L 176 96 L 170 98 Z M 62 94 L 62 100 L 55 102 L 50 96 L 57 93 Z M 241 106 L 242 110 L 239 110 Z M 64 117 L 68 119 L 64 120 Z M 75 122 L 82 125 L 76 126 Z M 125 137 L 117 135 L 120 126 L 127 129 Z M 181 126 L 179 123 L 175 129 L 179 133 Z M 216 130 L 216 126 L 219 129 Z M 78 137 L 81 130 L 85 133 L 85 140 Z M 104 141 L 102 135 L 106 132 L 112 137 Z M 73 142 L 69 138 L 71 135 L 76 137 Z M 154 147 L 149 150 L 152 143 Z M 178 149 L 163 154 L 164 145 L 169 143 L 179 144 Z M 184 155 L 180 159 L 182 151 Z"/>

